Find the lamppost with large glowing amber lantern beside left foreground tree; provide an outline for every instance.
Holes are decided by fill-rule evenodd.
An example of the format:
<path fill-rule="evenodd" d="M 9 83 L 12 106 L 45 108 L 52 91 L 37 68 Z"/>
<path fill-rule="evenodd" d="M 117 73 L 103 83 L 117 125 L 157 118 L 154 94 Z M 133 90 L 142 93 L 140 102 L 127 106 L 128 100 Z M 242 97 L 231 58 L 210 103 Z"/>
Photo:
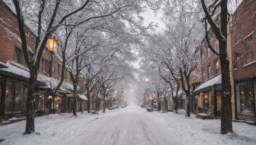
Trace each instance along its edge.
<path fill-rule="evenodd" d="M 53 38 L 48 38 L 48 45 L 49 45 L 49 50 L 50 50 L 50 53 L 51 53 L 51 61 L 50 61 L 50 68 L 49 68 L 49 74 L 50 74 L 50 77 L 52 78 L 52 54 L 55 52 L 55 48 L 57 46 L 57 41 L 55 39 L 55 37 Z M 51 92 L 52 93 L 52 92 Z M 52 101 L 50 100 L 49 102 L 49 110 L 51 111 L 51 104 L 54 103 L 54 94 L 51 94 L 52 96 Z M 53 109 L 54 109 L 54 106 L 53 106 Z M 54 112 L 53 112 L 54 113 Z"/>

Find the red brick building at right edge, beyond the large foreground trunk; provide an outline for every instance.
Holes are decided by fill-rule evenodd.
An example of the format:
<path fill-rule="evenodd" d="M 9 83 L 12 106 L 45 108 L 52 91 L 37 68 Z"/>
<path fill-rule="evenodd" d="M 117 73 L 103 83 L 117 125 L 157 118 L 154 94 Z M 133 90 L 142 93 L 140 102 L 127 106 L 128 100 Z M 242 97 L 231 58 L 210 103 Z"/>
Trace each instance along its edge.
<path fill-rule="evenodd" d="M 256 1 L 244 0 L 232 15 L 232 64 L 236 119 L 256 121 Z"/>

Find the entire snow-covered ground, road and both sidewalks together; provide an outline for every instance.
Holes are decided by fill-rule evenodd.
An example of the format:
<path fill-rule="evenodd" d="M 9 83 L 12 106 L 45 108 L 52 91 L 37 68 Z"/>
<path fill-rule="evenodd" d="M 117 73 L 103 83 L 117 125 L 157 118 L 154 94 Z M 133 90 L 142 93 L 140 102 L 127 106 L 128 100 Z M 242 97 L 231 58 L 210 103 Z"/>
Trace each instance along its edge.
<path fill-rule="evenodd" d="M 35 118 L 36 132 L 22 135 L 26 121 L 0 126 L 0 144 L 256 144 L 256 127 L 233 122 L 234 133 L 221 135 L 220 120 L 147 112 L 129 106 L 107 113 L 50 114 Z"/>

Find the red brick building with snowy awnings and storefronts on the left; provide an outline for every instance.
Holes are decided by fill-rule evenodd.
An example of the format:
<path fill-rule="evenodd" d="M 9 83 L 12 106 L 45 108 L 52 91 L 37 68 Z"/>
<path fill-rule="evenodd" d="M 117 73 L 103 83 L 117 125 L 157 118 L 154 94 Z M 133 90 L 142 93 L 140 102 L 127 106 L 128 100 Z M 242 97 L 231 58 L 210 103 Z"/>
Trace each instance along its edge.
<path fill-rule="evenodd" d="M 30 74 L 22 52 L 15 11 L 12 10 L 11 5 L 1 0 L 0 23 L 0 117 L 8 119 L 26 115 L 26 98 Z M 25 27 L 25 29 L 29 57 L 33 57 L 36 36 L 28 27 Z M 60 57 L 54 54 L 52 78 L 49 78 L 50 60 L 51 53 L 45 48 L 40 61 L 38 82 L 36 84 L 35 111 L 38 116 L 49 112 L 70 112 L 72 107 L 73 85 L 69 75 L 72 72 L 70 69 L 65 70 L 65 81 L 58 92 L 53 97 L 49 97 L 52 86 L 56 85 L 61 78 L 62 67 Z M 84 102 L 86 97 L 82 95 L 78 97 L 78 100 Z M 77 102 L 77 110 L 80 107 L 79 101 Z"/>

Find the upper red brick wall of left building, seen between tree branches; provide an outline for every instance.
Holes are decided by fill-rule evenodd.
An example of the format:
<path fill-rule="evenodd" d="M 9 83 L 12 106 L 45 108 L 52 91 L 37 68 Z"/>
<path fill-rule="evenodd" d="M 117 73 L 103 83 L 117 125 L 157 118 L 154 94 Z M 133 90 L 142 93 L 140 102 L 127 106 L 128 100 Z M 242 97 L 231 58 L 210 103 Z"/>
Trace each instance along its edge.
<path fill-rule="evenodd" d="M 9 11 L 8 8 L 4 7 L 0 3 L 0 62 L 6 64 L 8 60 L 15 59 L 15 46 L 22 50 L 22 45 L 20 42 L 19 26 L 17 23 L 16 16 Z M 35 50 L 35 34 L 31 33 L 28 28 L 26 28 L 27 43 L 29 48 L 34 52 Z M 47 70 L 42 72 L 42 59 L 47 60 Z M 39 73 L 49 77 L 49 61 L 51 60 L 51 53 L 47 48 L 45 48 L 42 59 L 40 62 Z M 58 76 L 61 76 L 61 67 L 62 62 L 56 55 L 53 55 L 53 63 L 56 65 L 56 72 L 52 73 L 52 77 L 58 79 Z M 58 74 L 58 64 L 60 64 L 60 73 Z M 67 79 L 70 79 L 69 72 L 67 73 Z M 67 80 L 66 80 L 67 81 Z M 68 81 L 69 83 L 72 83 Z"/>

